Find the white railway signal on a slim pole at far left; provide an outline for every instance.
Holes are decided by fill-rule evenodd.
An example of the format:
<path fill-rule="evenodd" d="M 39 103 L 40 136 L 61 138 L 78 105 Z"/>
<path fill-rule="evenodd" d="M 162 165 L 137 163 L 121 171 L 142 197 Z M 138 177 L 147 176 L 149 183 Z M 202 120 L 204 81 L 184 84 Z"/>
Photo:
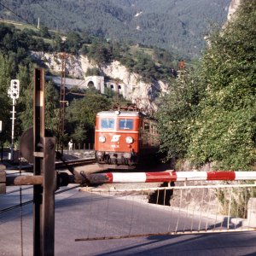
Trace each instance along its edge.
<path fill-rule="evenodd" d="M 10 154 L 10 160 L 14 160 L 14 146 L 15 146 L 15 105 L 16 105 L 16 99 L 19 98 L 20 93 L 20 81 L 18 79 L 11 80 L 10 87 L 8 90 L 8 95 L 13 100 L 13 111 L 12 113 L 12 137 L 11 137 L 11 154 Z"/>

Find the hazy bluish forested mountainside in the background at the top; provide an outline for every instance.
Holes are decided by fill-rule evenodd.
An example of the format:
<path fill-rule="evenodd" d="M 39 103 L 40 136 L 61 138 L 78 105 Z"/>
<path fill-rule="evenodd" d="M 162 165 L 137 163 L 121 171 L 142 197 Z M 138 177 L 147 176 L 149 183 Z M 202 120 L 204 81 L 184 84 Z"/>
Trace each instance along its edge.
<path fill-rule="evenodd" d="M 26 20 L 58 31 L 77 31 L 199 55 L 211 23 L 223 24 L 230 0 L 3 0 L 0 18 Z M 20 19 L 22 17 L 22 19 Z"/>

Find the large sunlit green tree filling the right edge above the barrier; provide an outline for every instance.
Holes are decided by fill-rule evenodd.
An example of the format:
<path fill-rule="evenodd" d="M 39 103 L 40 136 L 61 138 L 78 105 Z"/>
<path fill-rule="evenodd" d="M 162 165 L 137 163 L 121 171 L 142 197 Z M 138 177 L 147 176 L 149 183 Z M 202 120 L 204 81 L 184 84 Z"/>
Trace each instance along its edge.
<path fill-rule="evenodd" d="M 234 19 L 209 38 L 200 79 L 206 96 L 199 104 L 189 157 L 197 164 L 251 170 L 256 143 L 256 0 L 241 1 Z"/>

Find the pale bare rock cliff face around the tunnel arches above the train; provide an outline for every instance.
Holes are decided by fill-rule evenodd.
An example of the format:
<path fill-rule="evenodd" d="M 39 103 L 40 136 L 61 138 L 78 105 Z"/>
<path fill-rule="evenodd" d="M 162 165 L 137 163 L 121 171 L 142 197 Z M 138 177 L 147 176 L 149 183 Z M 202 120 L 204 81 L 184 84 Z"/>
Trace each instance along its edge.
<path fill-rule="evenodd" d="M 48 54 L 43 52 L 32 52 L 32 57 L 44 63 L 51 73 L 57 75 L 61 73 L 61 54 Z M 136 103 L 138 108 L 143 108 L 144 112 L 152 113 L 156 111 L 157 104 L 155 99 L 160 94 L 166 92 L 167 84 L 162 81 L 146 83 L 137 73 L 130 73 L 126 67 L 122 66 L 119 61 L 113 61 L 109 65 L 97 66 L 90 62 L 84 55 L 73 56 L 67 55 L 66 73 L 76 79 L 85 79 L 85 73 L 88 68 L 97 67 L 103 76 L 111 79 L 118 79 L 125 86 L 127 93 L 125 98 Z"/>

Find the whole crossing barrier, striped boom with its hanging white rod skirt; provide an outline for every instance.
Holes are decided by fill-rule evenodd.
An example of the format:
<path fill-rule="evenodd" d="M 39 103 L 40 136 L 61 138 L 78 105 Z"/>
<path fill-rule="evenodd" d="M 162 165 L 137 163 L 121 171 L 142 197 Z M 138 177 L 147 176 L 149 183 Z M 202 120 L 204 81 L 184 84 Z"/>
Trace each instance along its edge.
<path fill-rule="evenodd" d="M 81 220 L 86 236 L 76 241 L 256 230 L 256 172 L 108 172 L 87 178 L 113 184 L 81 189 L 90 204 Z M 118 183 L 135 184 L 119 189 Z"/>

